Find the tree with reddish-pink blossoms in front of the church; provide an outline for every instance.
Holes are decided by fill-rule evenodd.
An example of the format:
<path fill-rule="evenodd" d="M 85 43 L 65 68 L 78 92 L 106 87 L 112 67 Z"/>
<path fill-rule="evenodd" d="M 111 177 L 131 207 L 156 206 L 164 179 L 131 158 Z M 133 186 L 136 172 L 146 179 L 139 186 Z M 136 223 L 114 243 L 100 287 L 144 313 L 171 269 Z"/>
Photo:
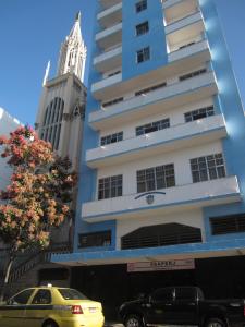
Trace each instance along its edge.
<path fill-rule="evenodd" d="M 0 145 L 1 157 L 13 169 L 10 185 L 0 192 L 5 201 L 0 205 L 0 240 L 10 249 L 5 286 L 16 253 L 47 247 L 52 227 L 70 218 L 68 205 L 76 174 L 69 159 L 56 157 L 51 144 L 28 126 L 19 128 L 9 138 L 0 137 Z"/>

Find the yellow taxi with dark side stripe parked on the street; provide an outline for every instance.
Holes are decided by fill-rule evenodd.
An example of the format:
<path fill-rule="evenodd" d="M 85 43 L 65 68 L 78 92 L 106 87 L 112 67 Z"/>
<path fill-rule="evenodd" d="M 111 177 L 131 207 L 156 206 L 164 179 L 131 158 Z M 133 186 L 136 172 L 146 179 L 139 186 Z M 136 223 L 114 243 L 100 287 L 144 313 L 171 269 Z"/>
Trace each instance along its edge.
<path fill-rule="evenodd" d="M 25 289 L 0 304 L 1 327 L 102 327 L 100 302 L 74 289 Z"/>

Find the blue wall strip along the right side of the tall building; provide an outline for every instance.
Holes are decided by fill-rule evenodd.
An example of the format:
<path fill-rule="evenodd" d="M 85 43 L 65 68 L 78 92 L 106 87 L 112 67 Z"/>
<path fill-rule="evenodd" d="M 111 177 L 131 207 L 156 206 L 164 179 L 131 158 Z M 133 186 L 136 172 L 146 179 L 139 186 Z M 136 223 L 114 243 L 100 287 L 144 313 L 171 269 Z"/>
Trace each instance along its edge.
<path fill-rule="evenodd" d="M 245 238 L 245 233 L 212 237 L 210 231 L 209 217 L 245 213 L 245 118 L 213 0 L 199 0 L 199 4 L 205 20 L 206 36 L 211 50 L 211 65 L 219 87 L 216 108 L 219 107 L 219 110 L 223 113 L 229 134 L 222 142 L 226 173 L 228 175 L 237 175 L 242 193 L 242 203 L 204 209 L 206 238 L 208 241 L 241 239 Z"/>

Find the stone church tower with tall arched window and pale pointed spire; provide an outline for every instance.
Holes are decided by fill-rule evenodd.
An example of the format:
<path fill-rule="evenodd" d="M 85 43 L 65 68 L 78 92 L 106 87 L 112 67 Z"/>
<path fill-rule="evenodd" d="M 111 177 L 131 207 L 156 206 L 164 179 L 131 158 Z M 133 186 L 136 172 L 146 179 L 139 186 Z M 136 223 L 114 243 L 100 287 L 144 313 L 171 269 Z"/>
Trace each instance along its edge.
<path fill-rule="evenodd" d="M 57 76 L 49 80 L 47 65 L 35 128 L 40 138 L 52 144 L 58 155 L 69 156 L 76 169 L 82 147 L 86 87 L 86 47 L 81 33 L 81 12 L 61 45 Z"/>

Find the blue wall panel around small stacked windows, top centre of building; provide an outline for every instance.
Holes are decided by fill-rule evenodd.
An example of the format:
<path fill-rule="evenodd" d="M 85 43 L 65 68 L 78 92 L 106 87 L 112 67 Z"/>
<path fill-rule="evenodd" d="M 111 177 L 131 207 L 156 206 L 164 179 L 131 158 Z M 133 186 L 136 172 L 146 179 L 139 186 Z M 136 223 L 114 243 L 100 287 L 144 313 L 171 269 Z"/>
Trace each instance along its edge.
<path fill-rule="evenodd" d="M 122 78 L 127 80 L 138 74 L 167 64 L 167 46 L 163 26 L 162 5 L 159 0 L 148 0 L 146 10 L 136 13 L 138 0 L 124 0 L 122 10 Z M 148 21 L 149 32 L 136 36 L 135 26 Z M 150 60 L 136 63 L 136 51 L 150 47 Z"/>

